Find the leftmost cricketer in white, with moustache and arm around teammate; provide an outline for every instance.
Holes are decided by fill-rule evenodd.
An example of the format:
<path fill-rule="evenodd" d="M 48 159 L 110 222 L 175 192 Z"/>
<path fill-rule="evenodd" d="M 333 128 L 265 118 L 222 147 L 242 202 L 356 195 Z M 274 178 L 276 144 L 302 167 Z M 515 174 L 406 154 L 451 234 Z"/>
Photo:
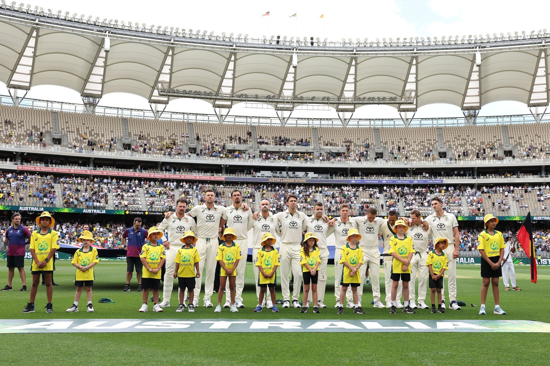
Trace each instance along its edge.
<path fill-rule="evenodd" d="M 182 197 L 175 202 L 175 212 L 166 212 L 164 219 L 158 226 L 163 231 L 168 229 L 168 240 L 162 243 L 166 248 L 166 272 L 164 273 L 161 307 L 170 307 L 170 299 L 174 289 L 174 260 L 183 244 L 179 239 L 183 238 L 186 231 L 191 230 L 195 233 L 197 231 L 195 219 L 185 215 L 185 211 L 187 211 L 187 200 Z"/>

